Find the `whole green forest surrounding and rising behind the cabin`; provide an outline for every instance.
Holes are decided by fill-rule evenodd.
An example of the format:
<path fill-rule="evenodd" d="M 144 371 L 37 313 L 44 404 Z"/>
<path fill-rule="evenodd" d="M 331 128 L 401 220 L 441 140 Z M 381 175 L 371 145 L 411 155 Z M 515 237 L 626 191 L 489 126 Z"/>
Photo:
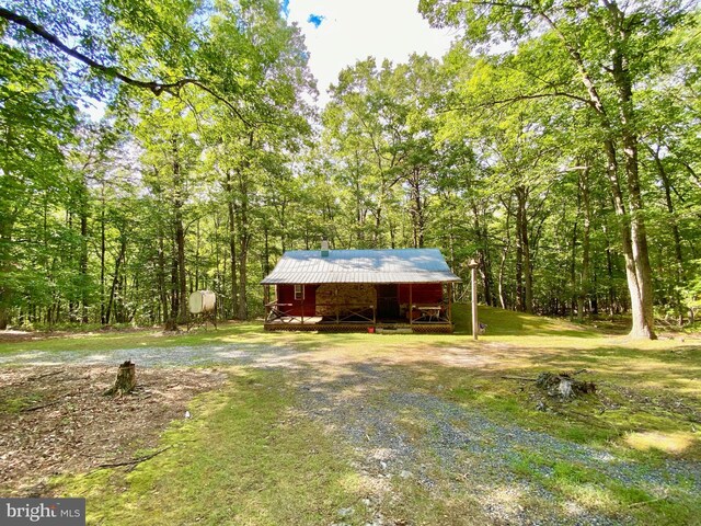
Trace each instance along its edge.
<path fill-rule="evenodd" d="M 407 2 L 406 9 L 415 9 Z M 286 250 L 441 249 L 479 298 L 701 308 L 701 14 L 679 0 L 421 0 L 440 59 L 349 65 L 325 107 L 275 0 L 0 7 L 0 329 L 263 312 Z"/>

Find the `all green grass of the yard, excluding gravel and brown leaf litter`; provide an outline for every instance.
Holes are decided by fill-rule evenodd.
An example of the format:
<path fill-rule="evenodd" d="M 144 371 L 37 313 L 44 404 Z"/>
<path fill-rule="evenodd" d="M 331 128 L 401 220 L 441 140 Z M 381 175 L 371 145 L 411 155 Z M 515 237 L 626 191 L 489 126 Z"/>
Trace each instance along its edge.
<path fill-rule="evenodd" d="M 153 330 L 94 333 L 0 343 L 0 354 L 175 345 L 261 344 L 292 347 L 300 363 L 329 375 L 372 361 L 406 371 L 406 389 L 430 392 L 490 419 L 609 451 L 642 466 L 701 460 L 701 343 L 632 341 L 590 327 L 480 308 L 487 333 L 474 342 L 466 306 L 455 309 L 455 334 L 266 333 L 260 322 L 225 323 L 217 331 L 163 335 Z M 586 368 L 598 391 L 562 403 L 532 382 L 539 373 Z M 365 524 L 363 499 L 372 493 L 354 468 L 354 453 L 334 432 L 295 413 L 295 373 L 232 369 L 230 386 L 193 405 L 195 419 L 175 422 L 159 450 L 130 472 L 103 469 L 54 481 L 56 491 L 87 496 L 89 524 Z M 549 411 L 539 411 L 538 402 Z M 10 401 L 18 411 L 28 401 Z M 432 430 L 400 415 L 407 436 Z M 519 451 L 510 469 L 564 502 L 639 524 L 693 524 L 701 503 L 685 488 L 664 498 L 605 479 L 575 464 Z M 393 483 L 377 503 L 398 524 L 484 524 L 478 502 L 435 473 L 428 491 L 415 480 Z M 503 495 L 505 502 L 510 493 Z M 494 495 L 495 500 L 501 499 Z M 521 503 L 530 502 L 522 495 Z M 344 513 L 340 514 L 340 511 Z M 623 518 L 621 518 L 622 521 Z M 628 521 L 628 518 L 625 518 Z"/>

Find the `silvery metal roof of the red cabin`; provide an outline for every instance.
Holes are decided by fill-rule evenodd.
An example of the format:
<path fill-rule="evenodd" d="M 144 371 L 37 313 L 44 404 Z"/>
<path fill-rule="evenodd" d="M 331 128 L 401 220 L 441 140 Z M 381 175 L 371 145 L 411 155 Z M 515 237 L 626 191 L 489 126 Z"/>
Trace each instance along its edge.
<path fill-rule="evenodd" d="M 437 283 L 460 282 L 438 249 L 290 250 L 261 282 L 320 283 Z"/>

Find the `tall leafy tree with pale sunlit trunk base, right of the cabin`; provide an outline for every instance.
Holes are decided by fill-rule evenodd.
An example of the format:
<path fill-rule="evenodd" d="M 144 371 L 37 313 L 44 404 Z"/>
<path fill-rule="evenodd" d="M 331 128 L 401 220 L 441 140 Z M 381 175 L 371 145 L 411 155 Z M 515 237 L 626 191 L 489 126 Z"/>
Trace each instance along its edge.
<path fill-rule="evenodd" d="M 653 284 L 641 190 L 639 139 L 640 123 L 635 108 L 635 87 L 654 69 L 656 60 L 669 49 L 657 43 L 685 21 L 680 2 L 635 2 L 621 4 L 572 4 L 568 2 L 482 2 L 459 4 L 446 0 L 422 0 L 421 11 L 434 25 L 464 28 L 472 43 L 486 43 L 495 34 L 519 44 L 547 32 L 555 38 L 576 71 L 566 78 L 562 62 L 551 61 L 549 76 L 533 82 L 527 93 L 516 99 L 570 98 L 596 116 L 607 156 L 611 196 L 621 224 L 621 244 L 633 316 L 632 336 L 655 338 Z M 537 62 L 545 66 L 545 57 Z M 570 75 L 568 72 L 564 72 Z M 620 168 L 619 149 L 623 168 Z"/>

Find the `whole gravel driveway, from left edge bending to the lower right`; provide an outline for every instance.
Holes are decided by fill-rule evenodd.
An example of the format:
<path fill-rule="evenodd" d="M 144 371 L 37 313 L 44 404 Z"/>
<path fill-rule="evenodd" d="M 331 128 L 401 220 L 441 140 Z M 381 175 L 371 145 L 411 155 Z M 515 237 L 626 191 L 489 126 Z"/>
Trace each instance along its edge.
<path fill-rule="evenodd" d="M 298 386 L 295 410 L 338 434 L 355 450 L 354 462 L 361 476 L 376 487 L 391 492 L 393 484 L 412 480 L 428 491 L 456 492 L 478 503 L 493 524 L 628 523 L 627 517 L 594 514 L 574 501 L 563 503 L 562 496 L 550 493 L 537 478 L 519 476 L 515 466 L 526 455 L 598 470 L 609 480 L 640 488 L 656 498 L 679 491 L 680 487 L 701 493 L 701 462 L 669 459 L 655 468 L 637 465 L 607 451 L 498 423 L 478 410 L 446 400 L 439 386 L 435 392 L 412 390 L 406 387 L 411 385 L 409 367 L 315 364 L 303 359 L 302 354 L 291 346 L 235 343 L 22 352 L 1 355 L 0 365 L 106 365 L 134 359 L 147 367 L 284 367 L 289 380 Z M 410 433 L 407 420 L 416 423 L 421 432 Z M 543 478 L 552 474 L 547 465 L 538 469 Z M 443 482 L 438 485 L 436 480 Z M 445 487 L 446 480 L 452 481 L 449 488 Z M 518 504 L 524 495 L 541 504 L 537 512 Z M 379 512 L 372 524 L 386 524 Z"/>

